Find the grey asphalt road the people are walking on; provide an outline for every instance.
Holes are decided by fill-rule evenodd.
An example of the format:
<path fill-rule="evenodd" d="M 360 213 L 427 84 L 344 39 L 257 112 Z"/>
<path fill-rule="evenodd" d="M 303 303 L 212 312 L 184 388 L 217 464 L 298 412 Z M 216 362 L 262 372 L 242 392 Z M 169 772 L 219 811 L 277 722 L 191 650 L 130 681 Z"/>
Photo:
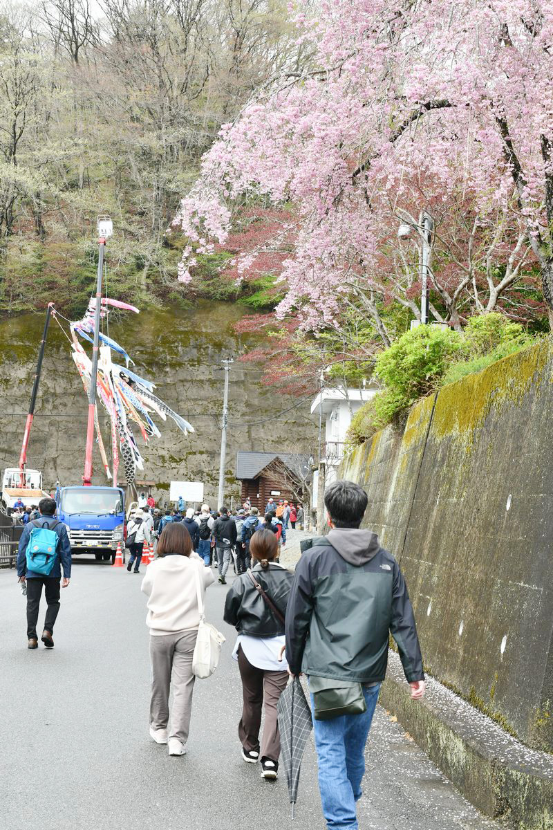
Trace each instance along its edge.
<path fill-rule="evenodd" d="M 143 569 L 142 569 L 143 570 Z M 216 674 L 196 681 L 188 754 L 148 736 L 148 633 L 141 579 L 80 559 L 62 591 L 56 647 L 27 649 L 25 599 L 0 571 L 2 830 L 275 830 L 288 827 L 284 775 L 265 782 L 240 758 L 240 679 L 222 622 L 226 588 L 206 613 L 226 634 Z M 42 614 L 39 625 L 42 625 Z M 39 629 L 40 631 L 40 629 Z M 454 790 L 380 707 L 367 746 L 361 830 L 497 828 Z M 303 760 L 295 830 L 323 830 L 316 759 Z"/>

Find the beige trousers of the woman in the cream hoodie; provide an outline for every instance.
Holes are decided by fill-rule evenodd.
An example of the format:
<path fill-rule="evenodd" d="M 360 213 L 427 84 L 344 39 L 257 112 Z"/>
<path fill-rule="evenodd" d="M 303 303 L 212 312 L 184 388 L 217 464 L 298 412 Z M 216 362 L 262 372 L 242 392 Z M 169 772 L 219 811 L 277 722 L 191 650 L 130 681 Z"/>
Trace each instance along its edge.
<path fill-rule="evenodd" d="M 196 677 L 192 674 L 192 657 L 198 632 L 181 631 L 150 635 L 152 663 L 152 697 L 150 725 L 153 729 L 167 729 L 169 720 L 169 692 L 172 691 L 171 730 L 169 738 L 186 744 L 192 712 L 192 691 Z"/>

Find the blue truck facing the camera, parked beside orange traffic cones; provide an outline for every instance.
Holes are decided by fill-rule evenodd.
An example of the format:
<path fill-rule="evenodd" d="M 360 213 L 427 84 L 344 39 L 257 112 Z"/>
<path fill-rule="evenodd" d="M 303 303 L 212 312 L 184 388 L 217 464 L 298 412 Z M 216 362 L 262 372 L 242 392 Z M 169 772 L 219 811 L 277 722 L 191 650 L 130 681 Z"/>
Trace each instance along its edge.
<path fill-rule="evenodd" d="M 56 505 L 72 554 L 114 562 L 117 545 L 124 545 L 124 492 L 119 487 L 58 487 Z"/>

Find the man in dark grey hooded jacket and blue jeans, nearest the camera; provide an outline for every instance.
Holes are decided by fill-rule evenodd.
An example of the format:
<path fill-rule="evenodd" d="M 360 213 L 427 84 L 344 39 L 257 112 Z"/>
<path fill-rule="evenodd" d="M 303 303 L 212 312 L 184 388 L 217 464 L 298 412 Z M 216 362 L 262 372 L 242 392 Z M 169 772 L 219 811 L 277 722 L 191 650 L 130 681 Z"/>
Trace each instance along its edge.
<path fill-rule="evenodd" d="M 312 692 L 361 684 L 366 711 L 314 719 L 318 779 L 328 828 L 357 830 L 356 802 L 365 773 L 365 745 L 391 633 L 411 697 L 424 695 L 415 617 L 400 567 L 371 530 L 360 530 L 366 492 L 335 481 L 324 494 L 323 539 L 299 560 L 286 612 L 289 671 L 309 676 Z"/>

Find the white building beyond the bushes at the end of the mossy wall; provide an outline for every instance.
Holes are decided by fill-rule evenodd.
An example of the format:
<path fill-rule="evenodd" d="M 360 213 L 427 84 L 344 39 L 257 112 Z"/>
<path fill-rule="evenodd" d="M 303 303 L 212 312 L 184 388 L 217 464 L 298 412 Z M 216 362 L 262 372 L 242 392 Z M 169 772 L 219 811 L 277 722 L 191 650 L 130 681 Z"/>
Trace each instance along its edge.
<path fill-rule="evenodd" d="M 344 454 L 347 427 L 363 403 L 376 395 L 376 389 L 347 389 L 339 386 L 323 389 L 311 404 L 311 414 L 321 416 L 321 461 L 325 463 L 325 486 L 337 479 L 338 466 Z M 313 507 L 318 499 L 318 475 L 313 481 Z"/>

